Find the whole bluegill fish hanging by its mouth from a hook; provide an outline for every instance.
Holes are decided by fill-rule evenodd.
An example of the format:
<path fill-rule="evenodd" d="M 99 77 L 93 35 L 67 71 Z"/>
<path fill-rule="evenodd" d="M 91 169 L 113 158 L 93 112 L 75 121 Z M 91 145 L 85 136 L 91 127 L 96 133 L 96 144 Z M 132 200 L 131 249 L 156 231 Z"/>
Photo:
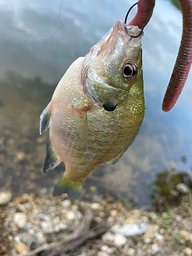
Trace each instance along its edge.
<path fill-rule="evenodd" d="M 141 30 L 119 19 L 69 67 L 40 116 L 49 127 L 44 172 L 65 163 L 53 195 L 77 198 L 87 176 L 114 163 L 139 132 L 144 112 Z"/>

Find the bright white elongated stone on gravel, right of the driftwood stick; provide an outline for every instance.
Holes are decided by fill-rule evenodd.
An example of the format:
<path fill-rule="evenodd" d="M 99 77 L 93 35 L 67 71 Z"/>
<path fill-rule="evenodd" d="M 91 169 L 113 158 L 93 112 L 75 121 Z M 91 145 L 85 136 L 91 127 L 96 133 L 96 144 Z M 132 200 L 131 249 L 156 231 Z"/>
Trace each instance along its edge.
<path fill-rule="evenodd" d="M 115 225 L 112 227 L 115 233 L 124 234 L 125 237 L 136 236 L 136 234 L 143 234 L 147 230 L 144 223 L 124 224 L 123 226 Z"/>

